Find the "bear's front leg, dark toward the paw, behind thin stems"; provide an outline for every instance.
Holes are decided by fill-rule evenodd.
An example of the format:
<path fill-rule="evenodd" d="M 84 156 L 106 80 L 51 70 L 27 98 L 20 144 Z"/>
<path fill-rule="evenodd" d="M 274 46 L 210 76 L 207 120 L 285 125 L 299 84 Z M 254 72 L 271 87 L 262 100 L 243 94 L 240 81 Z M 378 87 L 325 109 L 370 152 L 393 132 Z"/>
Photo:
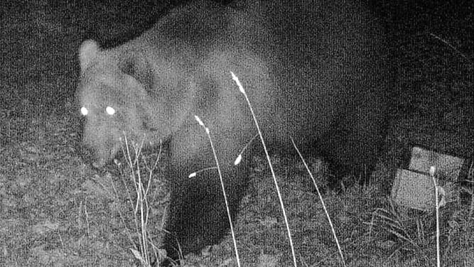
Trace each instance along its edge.
<path fill-rule="evenodd" d="M 230 228 L 208 138 L 202 128 L 187 130 L 171 141 L 171 200 L 164 247 L 174 260 L 180 254 L 198 254 L 205 246 L 217 244 Z M 239 202 L 247 190 L 249 167 L 247 160 L 234 165 L 239 142 L 223 136 L 214 143 L 235 224 Z M 196 175 L 189 178 L 191 173 Z"/>

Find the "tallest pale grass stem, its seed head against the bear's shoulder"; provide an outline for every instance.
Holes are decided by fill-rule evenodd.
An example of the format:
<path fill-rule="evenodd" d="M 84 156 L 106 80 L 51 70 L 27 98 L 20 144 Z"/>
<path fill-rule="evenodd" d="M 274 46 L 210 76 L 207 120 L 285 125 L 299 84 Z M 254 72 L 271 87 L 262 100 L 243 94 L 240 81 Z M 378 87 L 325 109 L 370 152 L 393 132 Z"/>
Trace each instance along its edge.
<path fill-rule="evenodd" d="M 255 117 L 254 109 L 252 109 L 252 104 L 250 104 L 249 97 L 247 96 L 247 93 L 245 92 L 244 87 L 242 87 L 242 84 L 240 83 L 239 78 L 234 74 L 234 72 L 230 72 L 230 74 L 232 75 L 232 79 L 237 84 L 237 87 L 239 87 L 240 92 L 242 92 L 242 94 L 244 94 L 244 97 L 245 97 L 245 100 L 247 101 L 247 105 L 249 106 L 250 112 L 252 112 L 252 117 L 254 118 L 255 126 L 257 126 L 257 131 L 259 132 L 260 141 L 262 141 L 262 145 L 263 145 L 264 151 L 265 151 L 266 160 L 269 163 L 271 176 L 273 177 L 273 181 L 274 181 L 275 188 L 276 188 L 276 193 L 278 194 L 278 199 L 280 201 L 281 212 L 283 212 L 283 217 L 285 219 L 286 231 L 288 232 L 288 238 L 289 238 L 290 246 L 291 246 L 291 254 L 293 254 L 293 265 L 296 267 L 297 266 L 297 264 L 296 264 L 296 255 L 295 255 L 295 249 L 294 249 L 294 246 L 293 246 L 293 239 L 291 238 L 291 231 L 290 231 L 290 227 L 289 227 L 289 223 L 288 223 L 288 217 L 286 217 L 286 211 L 285 211 L 285 207 L 284 207 L 284 204 L 283 204 L 283 199 L 281 197 L 280 187 L 278 185 L 278 182 L 276 182 L 275 172 L 273 170 L 273 166 L 271 165 L 271 160 L 270 160 L 269 153 L 266 150 L 266 145 L 265 145 L 264 138 L 262 136 L 262 131 L 260 131 L 260 126 L 259 126 L 259 123 L 257 122 L 257 118 Z"/>

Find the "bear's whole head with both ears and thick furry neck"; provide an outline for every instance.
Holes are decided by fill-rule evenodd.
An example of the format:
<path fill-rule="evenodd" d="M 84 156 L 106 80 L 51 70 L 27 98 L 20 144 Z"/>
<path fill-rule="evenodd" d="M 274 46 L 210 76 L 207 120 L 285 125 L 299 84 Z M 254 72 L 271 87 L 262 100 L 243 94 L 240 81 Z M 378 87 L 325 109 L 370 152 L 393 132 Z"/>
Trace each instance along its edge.
<path fill-rule="evenodd" d="M 143 50 L 124 45 L 110 50 L 92 40 L 81 45 L 82 145 L 92 152 L 96 168 L 122 151 L 125 140 L 144 147 L 164 141 L 189 109 L 190 96 L 180 92 L 192 91 L 190 83 L 177 77 L 176 68 L 163 66 L 162 60 L 151 64 L 142 55 Z"/>

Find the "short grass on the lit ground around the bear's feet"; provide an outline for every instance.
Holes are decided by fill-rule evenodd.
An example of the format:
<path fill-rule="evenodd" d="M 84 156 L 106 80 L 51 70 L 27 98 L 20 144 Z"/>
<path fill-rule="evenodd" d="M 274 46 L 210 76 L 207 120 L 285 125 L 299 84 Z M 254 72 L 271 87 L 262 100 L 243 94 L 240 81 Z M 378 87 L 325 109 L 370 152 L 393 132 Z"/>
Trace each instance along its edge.
<path fill-rule="evenodd" d="M 124 184 L 134 186 L 131 180 L 122 181 L 121 177 L 129 176 L 95 173 L 83 165 L 72 151 L 71 140 L 76 136 L 66 118 L 33 119 L 23 139 L 9 141 L 1 148 L 5 159 L 0 163 L 4 188 L 0 191 L 4 210 L 0 234 L 5 240 L 2 261 L 9 266 L 129 266 L 134 261 L 129 249 L 139 251 L 136 244 L 141 239 L 135 230 L 129 232 L 130 238 L 125 228 L 134 229 L 135 222 L 141 222 L 131 212 L 141 209 L 131 209 L 127 201 L 134 197 L 128 196 Z M 16 118 L 9 121 L 10 131 L 24 123 Z M 299 160 L 283 156 L 270 159 L 285 201 L 298 266 L 340 266 L 321 202 L 315 199 L 306 171 L 298 167 Z M 244 197 L 235 222 L 242 266 L 264 266 L 264 262 L 292 265 L 274 185 L 268 166 L 259 160 L 254 159 L 249 195 Z M 321 161 L 307 161 L 316 177 L 325 175 Z M 156 175 L 160 172 L 157 170 Z M 147 177 L 145 171 L 142 178 Z M 356 185 L 345 192 L 323 195 L 348 266 L 434 266 L 436 217 L 393 205 L 378 187 Z M 154 200 L 149 203 L 149 236 L 158 244 L 166 190 L 149 192 Z M 468 266 L 474 261 L 471 209 L 471 203 L 465 206 L 457 200 L 440 209 L 443 266 Z M 122 218 L 119 211 L 129 212 Z M 186 263 L 218 266 L 232 262 L 232 243 L 225 239 L 212 254 L 188 256 Z"/>

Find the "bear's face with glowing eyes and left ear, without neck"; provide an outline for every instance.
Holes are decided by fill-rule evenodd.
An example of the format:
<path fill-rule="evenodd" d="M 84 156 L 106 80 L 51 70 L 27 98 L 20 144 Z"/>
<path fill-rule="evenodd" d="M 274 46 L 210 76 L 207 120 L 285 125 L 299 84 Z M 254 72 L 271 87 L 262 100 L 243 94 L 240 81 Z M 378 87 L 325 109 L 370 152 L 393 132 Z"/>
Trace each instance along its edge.
<path fill-rule="evenodd" d="M 144 97 L 144 87 L 93 41 L 82 44 L 80 67 L 77 97 L 85 118 L 82 143 L 90 148 L 93 165 L 99 168 L 122 150 L 125 137 L 146 136 L 141 125 L 146 118 L 139 117 L 136 104 Z"/>

